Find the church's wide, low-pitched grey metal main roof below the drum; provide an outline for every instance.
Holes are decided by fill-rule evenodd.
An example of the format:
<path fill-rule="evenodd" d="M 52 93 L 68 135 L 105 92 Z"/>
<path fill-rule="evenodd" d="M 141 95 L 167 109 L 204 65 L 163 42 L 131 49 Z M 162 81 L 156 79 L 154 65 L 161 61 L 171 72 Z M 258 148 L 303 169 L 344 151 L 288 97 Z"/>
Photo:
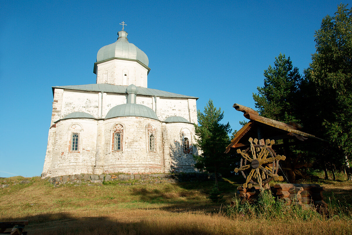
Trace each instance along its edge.
<path fill-rule="evenodd" d="M 72 85 L 72 86 L 53 86 L 52 93 L 54 94 L 55 88 L 68 89 L 68 90 L 80 90 L 80 91 L 103 91 L 119 94 L 127 94 L 127 86 L 112 85 L 112 84 L 87 84 L 87 85 Z M 138 87 L 137 95 L 141 96 L 157 96 L 157 97 L 169 97 L 169 98 L 192 98 L 198 99 L 194 96 L 185 96 L 183 94 L 176 94 L 168 91 L 161 91 L 146 87 Z"/>

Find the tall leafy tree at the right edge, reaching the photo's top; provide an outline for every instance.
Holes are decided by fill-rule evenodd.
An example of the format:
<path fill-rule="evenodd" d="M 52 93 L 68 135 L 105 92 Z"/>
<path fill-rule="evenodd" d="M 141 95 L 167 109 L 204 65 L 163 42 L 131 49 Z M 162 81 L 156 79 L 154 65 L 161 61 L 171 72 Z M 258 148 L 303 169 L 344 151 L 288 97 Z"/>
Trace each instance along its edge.
<path fill-rule="evenodd" d="M 338 148 L 335 157 L 351 157 L 352 8 L 340 4 L 333 17 L 322 19 L 314 37 L 316 53 L 302 83 L 311 107 L 306 122 L 314 120 L 311 128 Z"/>

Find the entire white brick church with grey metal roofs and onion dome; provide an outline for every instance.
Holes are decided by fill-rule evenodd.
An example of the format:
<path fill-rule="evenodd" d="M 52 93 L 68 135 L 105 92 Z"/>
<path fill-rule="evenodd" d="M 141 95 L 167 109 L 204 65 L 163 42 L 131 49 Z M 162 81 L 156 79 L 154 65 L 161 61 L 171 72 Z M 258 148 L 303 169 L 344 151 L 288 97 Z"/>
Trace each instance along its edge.
<path fill-rule="evenodd" d="M 96 84 L 54 86 L 42 176 L 196 172 L 196 97 L 147 88 L 146 54 L 120 31 Z"/>

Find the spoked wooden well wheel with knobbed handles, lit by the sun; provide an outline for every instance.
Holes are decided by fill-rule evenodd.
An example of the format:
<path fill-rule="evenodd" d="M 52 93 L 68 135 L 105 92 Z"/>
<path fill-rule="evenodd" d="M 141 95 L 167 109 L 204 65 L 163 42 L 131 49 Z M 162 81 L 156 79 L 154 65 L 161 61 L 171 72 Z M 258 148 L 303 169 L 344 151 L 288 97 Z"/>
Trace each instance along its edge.
<path fill-rule="evenodd" d="M 258 139 L 249 138 L 251 146 L 246 150 L 237 149 L 237 153 L 242 155 L 240 168 L 234 171 L 241 171 L 246 179 L 244 188 L 252 188 L 252 184 L 259 184 L 260 191 L 264 191 L 264 186 L 272 179 L 283 181 L 282 176 L 277 175 L 279 160 L 285 160 L 285 156 L 276 155 L 271 146 L 274 140 L 267 139 L 264 145 L 258 144 Z"/>

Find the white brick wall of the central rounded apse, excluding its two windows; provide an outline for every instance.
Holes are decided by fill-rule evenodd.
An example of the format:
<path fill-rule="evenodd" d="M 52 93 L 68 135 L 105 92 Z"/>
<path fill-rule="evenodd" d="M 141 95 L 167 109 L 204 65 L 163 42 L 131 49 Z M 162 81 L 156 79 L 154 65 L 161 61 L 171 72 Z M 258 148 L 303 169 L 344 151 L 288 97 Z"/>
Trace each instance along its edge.
<path fill-rule="evenodd" d="M 113 127 L 124 127 L 122 151 L 112 150 Z M 149 151 L 147 126 L 153 125 L 155 151 Z M 161 122 L 143 117 L 118 117 L 105 120 L 103 172 L 156 173 L 164 172 Z"/>

